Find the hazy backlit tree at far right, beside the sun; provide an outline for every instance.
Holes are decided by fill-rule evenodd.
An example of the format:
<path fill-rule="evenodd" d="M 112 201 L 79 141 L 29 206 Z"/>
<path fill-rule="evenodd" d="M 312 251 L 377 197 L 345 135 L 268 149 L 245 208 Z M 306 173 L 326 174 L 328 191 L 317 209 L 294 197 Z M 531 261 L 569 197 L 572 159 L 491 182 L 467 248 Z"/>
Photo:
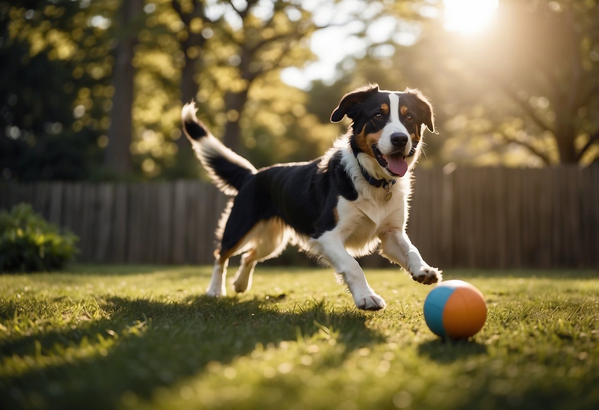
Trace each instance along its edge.
<path fill-rule="evenodd" d="M 497 54 L 479 72 L 497 81 L 540 133 L 552 134 L 561 163 L 577 163 L 599 141 L 599 3 L 509 2 L 491 47 Z M 507 37 L 507 38 L 506 38 Z M 503 47 L 502 47 L 503 45 Z M 514 139 L 552 162 L 526 139 Z"/>

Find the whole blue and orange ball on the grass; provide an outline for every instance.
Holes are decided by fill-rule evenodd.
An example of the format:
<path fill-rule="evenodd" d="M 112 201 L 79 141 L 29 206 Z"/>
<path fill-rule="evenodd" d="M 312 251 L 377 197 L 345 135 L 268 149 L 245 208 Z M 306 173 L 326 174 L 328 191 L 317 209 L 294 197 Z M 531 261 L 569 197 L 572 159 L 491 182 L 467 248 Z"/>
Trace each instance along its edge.
<path fill-rule="evenodd" d="M 466 339 L 485 325 L 486 304 L 480 290 L 463 280 L 446 280 L 424 301 L 424 320 L 435 335 Z"/>

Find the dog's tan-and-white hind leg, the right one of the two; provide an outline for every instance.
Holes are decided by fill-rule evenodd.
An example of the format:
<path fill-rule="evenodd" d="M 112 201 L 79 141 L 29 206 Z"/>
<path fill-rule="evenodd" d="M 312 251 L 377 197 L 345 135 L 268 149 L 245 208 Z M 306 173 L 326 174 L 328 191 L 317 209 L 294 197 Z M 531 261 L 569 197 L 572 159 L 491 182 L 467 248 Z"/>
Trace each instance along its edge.
<path fill-rule="evenodd" d="M 288 230 L 278 218 L 260 221 L 247 236 L 250 249 L 241 256 L 241 265 L 233 282 L 235 292 L 249 290 L 256 264 L 279 256 L 289 241 Z"/>

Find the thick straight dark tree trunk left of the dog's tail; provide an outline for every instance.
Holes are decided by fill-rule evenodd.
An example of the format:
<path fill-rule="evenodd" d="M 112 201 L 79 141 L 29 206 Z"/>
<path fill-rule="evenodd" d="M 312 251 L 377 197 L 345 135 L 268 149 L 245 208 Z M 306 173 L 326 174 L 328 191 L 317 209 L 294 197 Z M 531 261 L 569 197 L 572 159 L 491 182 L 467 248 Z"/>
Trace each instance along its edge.
<path fill-rule="evenodd" d="M 143 5 L 143 0 L 125 1 L 120 7 L 118 16 L 120 38 L 117 39 L 117 45 L 114 48 L 114 97 L 104 165 L 120 176 L 131 173 L 129 146 L 132 137 L 131 108 L 135 74 L 131 62 L 134 56 L 134 47 L 137 44 L 137 30 L 132 29 L 131 26 L 134 20 L 143 13 Z"/>

